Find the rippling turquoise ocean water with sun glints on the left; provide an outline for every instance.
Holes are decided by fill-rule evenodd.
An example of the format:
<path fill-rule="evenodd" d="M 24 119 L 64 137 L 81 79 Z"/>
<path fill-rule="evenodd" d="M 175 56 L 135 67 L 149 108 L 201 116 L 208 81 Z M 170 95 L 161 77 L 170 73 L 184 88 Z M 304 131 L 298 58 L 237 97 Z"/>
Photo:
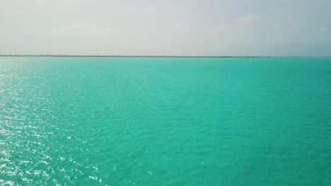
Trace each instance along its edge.
<path fill-rule="evenodd" d="M 0 185 L 331 185 L 331 58 L 0 58 Z"/>

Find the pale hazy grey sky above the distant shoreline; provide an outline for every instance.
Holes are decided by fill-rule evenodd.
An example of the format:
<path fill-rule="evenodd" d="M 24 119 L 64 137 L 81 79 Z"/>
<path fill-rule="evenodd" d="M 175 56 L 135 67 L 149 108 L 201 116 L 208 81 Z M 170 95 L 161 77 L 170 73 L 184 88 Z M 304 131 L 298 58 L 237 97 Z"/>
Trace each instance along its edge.
<path fill-rule="evenodd" d="M 0 54 L 331 56 L 331 0 L 0 0 Z"/>

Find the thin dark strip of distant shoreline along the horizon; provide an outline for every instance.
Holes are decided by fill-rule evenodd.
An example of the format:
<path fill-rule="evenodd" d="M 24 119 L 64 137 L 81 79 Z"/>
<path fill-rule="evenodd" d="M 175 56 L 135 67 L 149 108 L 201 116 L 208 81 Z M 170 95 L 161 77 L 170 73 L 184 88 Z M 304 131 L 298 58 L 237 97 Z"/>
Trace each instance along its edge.
<path fill-rule="evenodd" d="M 98 57 L 98 58 L 330 58 L 331 56 L 120 56 L 120 55 L 0 55 L 0 57 Z"/>

